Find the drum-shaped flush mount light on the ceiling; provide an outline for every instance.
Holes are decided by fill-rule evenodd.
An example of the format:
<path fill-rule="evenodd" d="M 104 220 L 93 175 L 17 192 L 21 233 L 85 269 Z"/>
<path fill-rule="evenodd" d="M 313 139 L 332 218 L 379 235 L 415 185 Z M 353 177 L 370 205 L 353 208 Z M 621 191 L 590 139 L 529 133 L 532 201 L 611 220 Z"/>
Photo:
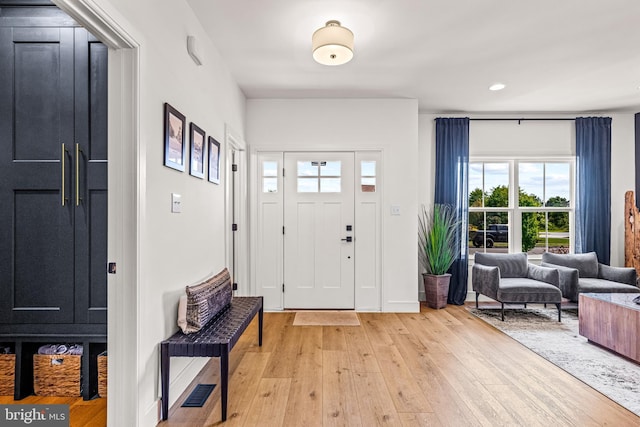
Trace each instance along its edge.
<path fill-rule="evenodd" d="M 353 33 L 339 21 L 327 21 L 311 37 L 313 59 L 323 65 L 342 65 L 353 58 Z"/>

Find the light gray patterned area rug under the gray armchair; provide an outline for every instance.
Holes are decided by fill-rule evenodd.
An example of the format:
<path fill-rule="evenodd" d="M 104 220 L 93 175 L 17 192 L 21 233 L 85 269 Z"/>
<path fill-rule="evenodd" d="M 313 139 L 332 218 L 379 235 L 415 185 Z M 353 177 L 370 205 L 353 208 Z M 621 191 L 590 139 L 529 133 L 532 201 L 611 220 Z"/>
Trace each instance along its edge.
<path fill-rule="evenodd" d="M 535 353 L 640 416 L 640 365 L 591 344 L 578 333 L 577 310 L 554 309 L 469 311 Z"/>

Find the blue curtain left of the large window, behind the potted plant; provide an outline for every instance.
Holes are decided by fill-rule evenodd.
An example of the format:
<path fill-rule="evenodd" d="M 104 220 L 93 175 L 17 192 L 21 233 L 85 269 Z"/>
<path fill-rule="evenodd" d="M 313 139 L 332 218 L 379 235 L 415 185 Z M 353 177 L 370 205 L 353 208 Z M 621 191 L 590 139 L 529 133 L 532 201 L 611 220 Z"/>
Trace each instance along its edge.
<path fill-rule="evenodd" d="M 436 119 L 435 203 L 455 208 L 460 220 L 460 256 L 451 266 L 449 304 L 464 304 L 467 298 L 469 241 L 469 118 Z"/>

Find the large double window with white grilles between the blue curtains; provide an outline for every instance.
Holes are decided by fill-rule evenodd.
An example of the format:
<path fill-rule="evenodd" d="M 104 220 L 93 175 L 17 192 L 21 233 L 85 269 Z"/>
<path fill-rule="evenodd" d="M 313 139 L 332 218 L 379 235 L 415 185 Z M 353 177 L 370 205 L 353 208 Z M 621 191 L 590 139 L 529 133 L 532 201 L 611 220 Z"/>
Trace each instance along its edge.
<path fill-rule="evenodd" d="M 469 253 L 570 252 L 572 174 L 573 159 L 470 162 Z"/>

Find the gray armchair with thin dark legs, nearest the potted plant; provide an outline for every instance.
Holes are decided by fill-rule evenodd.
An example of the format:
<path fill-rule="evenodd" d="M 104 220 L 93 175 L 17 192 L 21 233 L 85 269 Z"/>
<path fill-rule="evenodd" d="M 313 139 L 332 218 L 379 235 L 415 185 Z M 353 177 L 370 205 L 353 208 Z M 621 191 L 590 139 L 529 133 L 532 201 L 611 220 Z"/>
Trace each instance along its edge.
<path fill-rule="evenodd" d="M 555 304 L 561 321 L 562 292 L 555 268 L 540 267 L 527 261 L 526 253 L 489 254 L 476 252 L 471 270 L 471 283 L 478 296 L 485 295 L 501 303 L 504 320 L 505 303 Z"/>

